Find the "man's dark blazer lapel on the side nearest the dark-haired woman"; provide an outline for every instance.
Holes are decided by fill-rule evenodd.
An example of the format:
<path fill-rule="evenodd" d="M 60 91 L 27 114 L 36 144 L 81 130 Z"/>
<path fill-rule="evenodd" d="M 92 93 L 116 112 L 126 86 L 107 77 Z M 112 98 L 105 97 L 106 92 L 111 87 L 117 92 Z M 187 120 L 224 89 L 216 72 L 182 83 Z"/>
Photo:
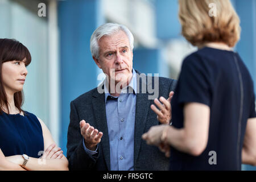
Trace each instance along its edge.
<path fill-rule="evenodd" d="M 101 85 L 102 86 L 102 85 Z M 105 107 L 105 94 L 104 93 L 93 93 L 93 112 L 96 118 L 96 126 L 98 131 L 103 133 L 100 145 L 102 147 L 102 152 L 105 158 L 108 170 L 110 170 L 110 146 L 109 146 L 109 134 L 108 134 L 108 124 L 106 121 L 106 107 Z"/>

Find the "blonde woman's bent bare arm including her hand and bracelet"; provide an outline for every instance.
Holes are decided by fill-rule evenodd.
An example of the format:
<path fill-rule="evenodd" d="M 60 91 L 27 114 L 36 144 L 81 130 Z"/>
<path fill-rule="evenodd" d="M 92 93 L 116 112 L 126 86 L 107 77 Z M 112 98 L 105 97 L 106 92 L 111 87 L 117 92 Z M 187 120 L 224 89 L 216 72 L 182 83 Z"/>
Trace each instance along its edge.
<path fill-rule="evenodd" d="M 200 155 L 207 146 L 210 122 L 210 108 L 205 104 L 191 102 L 184 106 L 184 127 L 152 126 L 142 135 L 147 144 L 159 146 L 166 131 L 165 143 L 190 155 Z M 166 130 L 166 129 L 167 130 Z"/>

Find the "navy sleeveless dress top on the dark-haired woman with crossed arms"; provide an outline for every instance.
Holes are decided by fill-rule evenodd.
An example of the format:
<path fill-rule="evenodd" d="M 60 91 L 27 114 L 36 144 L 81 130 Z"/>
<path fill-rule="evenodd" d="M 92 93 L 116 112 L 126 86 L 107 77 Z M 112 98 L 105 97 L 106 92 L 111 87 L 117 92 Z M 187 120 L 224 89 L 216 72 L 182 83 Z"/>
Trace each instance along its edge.
<path fill-rule="evenodd" d="M 38 118 L 27 111 L 20 114 L 0 114 L 0 148 L 5 156 L 26 154 L 39 158 L 44 139 Z"/>

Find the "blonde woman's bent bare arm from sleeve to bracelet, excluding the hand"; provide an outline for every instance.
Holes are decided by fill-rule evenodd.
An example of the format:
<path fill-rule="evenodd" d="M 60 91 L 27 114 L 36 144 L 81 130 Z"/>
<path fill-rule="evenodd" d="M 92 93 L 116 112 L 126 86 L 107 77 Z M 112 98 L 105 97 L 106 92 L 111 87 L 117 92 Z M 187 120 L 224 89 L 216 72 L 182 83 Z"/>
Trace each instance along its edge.
<path fill-rule="evenodd" d="M 168 131 L 169 144 L 181 152 L 199 156 L 207 147 L 210 122 L 210 108 L 191 102 L 184 106 L 184 127 Z"/>

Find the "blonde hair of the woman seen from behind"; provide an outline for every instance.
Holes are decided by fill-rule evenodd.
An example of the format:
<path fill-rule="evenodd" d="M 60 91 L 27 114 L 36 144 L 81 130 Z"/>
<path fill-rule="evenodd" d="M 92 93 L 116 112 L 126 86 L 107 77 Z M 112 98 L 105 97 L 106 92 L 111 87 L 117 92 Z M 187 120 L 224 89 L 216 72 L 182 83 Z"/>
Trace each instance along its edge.
<path fill-rule="evenodd" d="M 222 42 L 234 47 L 240 39 L 240 19 L 229 0 L 179 0 L 179 19 L 181 34 L 193 46 Z"/>

